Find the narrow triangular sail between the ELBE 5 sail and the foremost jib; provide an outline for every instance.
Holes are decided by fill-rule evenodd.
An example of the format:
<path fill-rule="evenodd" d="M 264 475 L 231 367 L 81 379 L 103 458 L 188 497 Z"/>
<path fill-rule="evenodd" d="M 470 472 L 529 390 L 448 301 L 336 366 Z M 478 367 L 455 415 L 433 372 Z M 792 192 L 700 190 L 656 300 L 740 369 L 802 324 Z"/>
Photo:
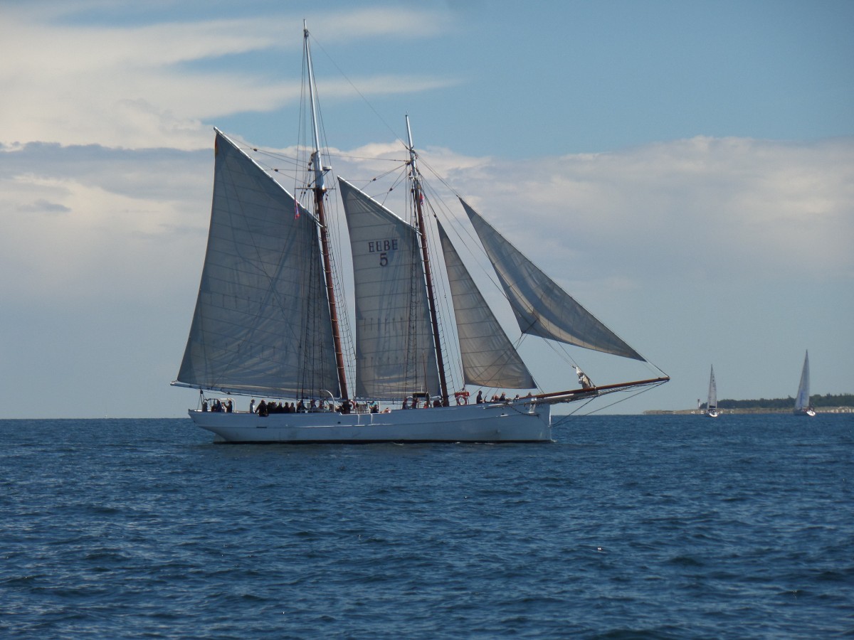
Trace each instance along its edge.
<path fill-rule="evenodd" d="M 506 389 L 535 387 L 528 368 L 483 300 L 483 294 L 459 259 L 442 224 L 438 227 L 453 297 L 465 384 Z"/>

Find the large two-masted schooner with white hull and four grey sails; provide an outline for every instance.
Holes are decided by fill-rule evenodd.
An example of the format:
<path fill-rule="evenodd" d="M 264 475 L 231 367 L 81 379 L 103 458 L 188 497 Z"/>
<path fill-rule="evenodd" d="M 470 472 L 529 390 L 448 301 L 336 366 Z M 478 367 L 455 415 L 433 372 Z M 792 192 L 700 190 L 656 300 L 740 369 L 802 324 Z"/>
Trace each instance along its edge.
<path fill-rule="evenodd" d="M 437 261 L 444 263 L 451 293 L 463 382 L 461 391 L 449 391 L 454 387 L 436 305 L 436 257 L 427 244 L 430 199 L 408 117 L 403 166 L 409 219 L 342 177 L 337 189 L 328 187 L 305 25 L 303 37 L 311 131 L 306 139 L 313 144 L 303 165 L 306 177 L 294 193 L 273 177 L 277 170 L 214 130 L 208 247 L 173 381 L 199 390 L 201 408 L 189 411 L 196 426 L 227 442 L 547 442 L 553 405 L 670 380 L 655 368 L 656 377 L 596 386 L 576 368 L 577 388 L 543 392 L 436 218 Z M 330 237 L 330 190 L 341 198 L 353 260 L 354 346 Z M 309 207 L 301 194 L 312 201 Z M 524 335 L 647 362 L 459 201 Z M 465 386 L 528 393 L 470 403 Z M 252 397 L 249 411 L 231 410 L 220 394 Z M 258 397 L 269 402 L 255 407 Z M 210 402 L 216 410 L 208 410 Z"/>

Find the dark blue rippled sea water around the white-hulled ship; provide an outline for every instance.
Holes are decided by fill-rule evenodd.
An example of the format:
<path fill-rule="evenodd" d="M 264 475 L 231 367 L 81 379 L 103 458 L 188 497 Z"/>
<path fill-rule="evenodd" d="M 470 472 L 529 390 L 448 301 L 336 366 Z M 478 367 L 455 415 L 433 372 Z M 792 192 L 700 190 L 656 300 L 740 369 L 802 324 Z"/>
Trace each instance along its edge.
<path fill-rule="evenodd" d="M 0 421 L 0 636 L 854 634 L 854 416 L 551 445 L 213 445 Z"/>

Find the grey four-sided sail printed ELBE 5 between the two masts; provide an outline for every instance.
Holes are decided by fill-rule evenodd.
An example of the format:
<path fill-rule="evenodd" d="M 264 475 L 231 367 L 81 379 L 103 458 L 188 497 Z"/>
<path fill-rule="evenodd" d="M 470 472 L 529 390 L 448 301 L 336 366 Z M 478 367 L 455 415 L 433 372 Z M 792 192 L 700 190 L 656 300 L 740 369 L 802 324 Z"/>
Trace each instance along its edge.
<path fill-rule="evenodd" d="M 356 396 L 439 393 L 418 230 L 338 178 L 353 253 Z"/>

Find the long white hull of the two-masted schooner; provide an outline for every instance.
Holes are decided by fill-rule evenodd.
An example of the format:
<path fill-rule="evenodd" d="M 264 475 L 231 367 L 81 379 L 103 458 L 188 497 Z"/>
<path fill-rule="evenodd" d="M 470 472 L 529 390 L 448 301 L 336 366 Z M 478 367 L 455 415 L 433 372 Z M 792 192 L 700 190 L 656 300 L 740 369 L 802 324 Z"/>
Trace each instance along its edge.
<path fill-rule="evenodd" d="M 389 413 L 216 413 L 190 410 L 222 442 L 550 442 L 551 406 L 517 401 Z"/>

